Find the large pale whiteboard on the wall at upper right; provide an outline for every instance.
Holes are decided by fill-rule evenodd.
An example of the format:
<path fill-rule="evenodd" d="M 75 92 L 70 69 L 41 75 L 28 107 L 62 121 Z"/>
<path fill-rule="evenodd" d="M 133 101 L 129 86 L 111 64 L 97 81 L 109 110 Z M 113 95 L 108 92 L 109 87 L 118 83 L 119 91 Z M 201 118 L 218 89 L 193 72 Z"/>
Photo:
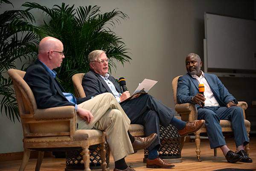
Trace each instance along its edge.
<path fill-rule="evenodd" d="M 205 13 L 207 72 L 256 74 L 256 20 Z"/>

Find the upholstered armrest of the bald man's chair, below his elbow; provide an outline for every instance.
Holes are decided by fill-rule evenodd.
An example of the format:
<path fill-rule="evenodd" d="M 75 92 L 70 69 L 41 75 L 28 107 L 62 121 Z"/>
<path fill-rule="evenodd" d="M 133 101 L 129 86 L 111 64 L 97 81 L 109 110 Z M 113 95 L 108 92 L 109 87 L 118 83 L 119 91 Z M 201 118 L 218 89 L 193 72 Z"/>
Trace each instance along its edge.
<path fill-rule="evenodd" d="M 37 109 L 34 114 L 36 120 L 40 119 L 64 119 L 76 116 L 74 106 L 51 107 L 47 109 Z"/>

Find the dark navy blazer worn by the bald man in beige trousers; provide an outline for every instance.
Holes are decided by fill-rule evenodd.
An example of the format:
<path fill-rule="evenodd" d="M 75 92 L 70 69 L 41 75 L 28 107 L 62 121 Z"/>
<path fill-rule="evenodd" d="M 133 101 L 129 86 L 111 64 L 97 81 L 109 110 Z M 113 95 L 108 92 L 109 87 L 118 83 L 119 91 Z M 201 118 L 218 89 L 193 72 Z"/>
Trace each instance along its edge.
<path fill-rule="evenodd" d="M 64 88 L 59 84 L 56 78 L 52 78 L 44 64 L 37 60 L 34 64 L 30 65 L 23 78 L 31 88 L 35 101 L 39 109 L 59 106 L 75 106 L 70 103 L 62 92 L 66 93 Z M 76 98 L 77 104 L 86 100 L 86 98 Z"/>

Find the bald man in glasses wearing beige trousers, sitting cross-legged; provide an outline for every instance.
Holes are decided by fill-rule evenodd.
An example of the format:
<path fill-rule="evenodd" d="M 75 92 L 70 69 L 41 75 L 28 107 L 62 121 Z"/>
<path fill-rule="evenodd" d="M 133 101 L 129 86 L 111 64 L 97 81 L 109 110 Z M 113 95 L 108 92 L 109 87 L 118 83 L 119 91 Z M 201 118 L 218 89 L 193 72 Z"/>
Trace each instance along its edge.
<path fill-rule="evenodd" d="M 128 134 L 130 119 L 111 93 L 104 93 L 95 98 L 75 98 L 66 93 L 55 78 L 53 70 L 61 66 L 65 58 L 63 44 L 56 38 L 46 37 L 38 45 L 38 60 L 30 65 L 24 76 L 39 109 L 59 106 L 76 108 L 78 129 L 105 130 L 107 141 L 115 161 L 114 171 L 134 171 L 125 163 L 125 156 L 134 153 Z M 150 145 L 156 134 L 137 142 L 142 147 Z"/>

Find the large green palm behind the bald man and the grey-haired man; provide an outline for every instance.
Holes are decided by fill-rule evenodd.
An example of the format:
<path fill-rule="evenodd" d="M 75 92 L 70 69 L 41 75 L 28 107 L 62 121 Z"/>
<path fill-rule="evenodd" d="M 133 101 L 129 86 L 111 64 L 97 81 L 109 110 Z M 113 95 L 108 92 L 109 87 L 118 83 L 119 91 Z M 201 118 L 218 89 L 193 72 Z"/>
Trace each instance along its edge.
<path fill-rule="evenodd" d="M 99 6 L 55 5 L 52 9 L 38 3 L 24 3 L 27 10 L 41 9 L 46 13 L 41 28 L 47 35 L 58 38 L 64 45 L 65 58 L 58 72 L 58 79 L 68 92 L 74 93 L 72 76 L 90 70 L 88 54 L 96 49 L 106 52 L 111 67 L 116 69 L 113 59 L 124 64 L 131 59 L 122 38 L 117 36 L 110 27 L 125 20 L 128 16 L 116 9 L 102 14 Z M 48 22 L 49 21 L 49 22 Z"/>

